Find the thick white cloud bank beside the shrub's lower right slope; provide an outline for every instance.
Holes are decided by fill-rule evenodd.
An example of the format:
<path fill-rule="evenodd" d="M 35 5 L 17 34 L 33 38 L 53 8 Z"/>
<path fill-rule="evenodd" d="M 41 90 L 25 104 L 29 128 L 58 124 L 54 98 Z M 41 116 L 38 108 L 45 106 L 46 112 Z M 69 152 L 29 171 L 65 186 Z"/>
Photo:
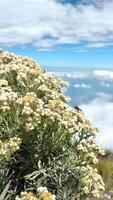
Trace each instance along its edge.
<path fill-rule="evenodd" d="M 93 124 L 101 129 L 97 142 L 103 148 L 113 150 L 113 101 L 111 101 L 111 96 L 102 93 L 90 103 L 80 105 L 80 108 Z"/>

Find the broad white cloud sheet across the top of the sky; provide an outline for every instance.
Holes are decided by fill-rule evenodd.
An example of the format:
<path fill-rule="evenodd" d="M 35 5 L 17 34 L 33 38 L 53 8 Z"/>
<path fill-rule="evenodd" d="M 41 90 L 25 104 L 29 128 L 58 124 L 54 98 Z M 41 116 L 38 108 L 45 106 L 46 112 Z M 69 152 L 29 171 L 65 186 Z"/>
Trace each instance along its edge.
<path fill-rule="evenodd" d="M 57 0 L 1 0 L 0 44 L 33 44 L 40 50 L 82 40 L 109 44 L 113 39 L 113 1 L 96 2 L 101 8 Z"/>

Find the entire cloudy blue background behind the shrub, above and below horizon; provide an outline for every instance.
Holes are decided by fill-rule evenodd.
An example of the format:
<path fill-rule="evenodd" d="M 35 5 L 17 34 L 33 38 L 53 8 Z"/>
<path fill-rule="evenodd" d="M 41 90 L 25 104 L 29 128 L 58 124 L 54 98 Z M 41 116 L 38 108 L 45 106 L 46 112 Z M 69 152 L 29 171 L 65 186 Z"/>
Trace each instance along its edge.
<path fill-rule="evenodd" d="M 113 0 L 0 0 L 0 47 L 68 80 L 73 105 L 113 150 Z"/>

